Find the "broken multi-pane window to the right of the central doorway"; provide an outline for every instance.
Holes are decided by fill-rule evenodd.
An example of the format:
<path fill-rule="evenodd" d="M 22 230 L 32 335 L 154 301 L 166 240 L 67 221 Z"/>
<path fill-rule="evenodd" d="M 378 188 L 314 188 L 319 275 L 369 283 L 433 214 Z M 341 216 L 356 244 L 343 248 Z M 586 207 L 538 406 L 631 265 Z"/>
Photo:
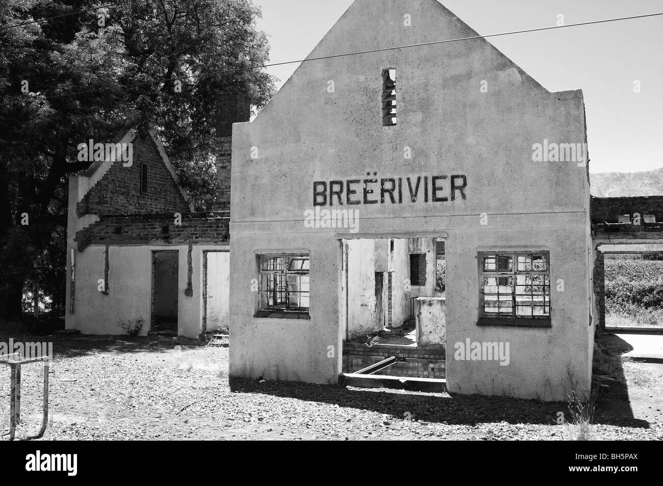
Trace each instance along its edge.
<path fill-rule="evenodd" d="M 548 253 L 483 253 L 483 317 L 549 318 Z"/>

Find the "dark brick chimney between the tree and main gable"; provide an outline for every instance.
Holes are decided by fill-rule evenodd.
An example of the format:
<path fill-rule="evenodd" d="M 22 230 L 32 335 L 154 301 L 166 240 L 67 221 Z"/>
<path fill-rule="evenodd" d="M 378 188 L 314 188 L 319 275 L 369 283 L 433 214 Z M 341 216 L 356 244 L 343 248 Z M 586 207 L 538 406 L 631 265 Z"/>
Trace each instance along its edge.
<path fill-rule="evenodd" d="M 243 93 L 223 93 L 216 115 L 216 211 L 230 211 L 230 164 L 233 123 L 249 121 L 251 100 Z"/>

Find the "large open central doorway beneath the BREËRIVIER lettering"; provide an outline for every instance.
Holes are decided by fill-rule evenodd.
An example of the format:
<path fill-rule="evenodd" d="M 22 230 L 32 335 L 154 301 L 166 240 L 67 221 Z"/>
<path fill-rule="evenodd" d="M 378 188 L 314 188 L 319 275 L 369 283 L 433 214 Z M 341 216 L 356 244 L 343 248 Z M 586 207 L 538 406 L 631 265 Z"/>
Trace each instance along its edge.
<path fill-rule="evenodd" d="M 343 373 L 444 380 L 444 238 L 341 239 Z"/>

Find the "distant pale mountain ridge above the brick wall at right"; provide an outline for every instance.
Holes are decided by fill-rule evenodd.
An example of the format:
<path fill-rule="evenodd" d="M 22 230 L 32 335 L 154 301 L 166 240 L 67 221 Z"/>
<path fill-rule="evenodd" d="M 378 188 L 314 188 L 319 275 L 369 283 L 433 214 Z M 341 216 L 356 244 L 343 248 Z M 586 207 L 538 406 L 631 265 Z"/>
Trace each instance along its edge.
<path fill-rule="evenodd" d="M 663 196 L 663 167 L 645 172 L 597 172 L 589 174 L 592 196 Z"/>

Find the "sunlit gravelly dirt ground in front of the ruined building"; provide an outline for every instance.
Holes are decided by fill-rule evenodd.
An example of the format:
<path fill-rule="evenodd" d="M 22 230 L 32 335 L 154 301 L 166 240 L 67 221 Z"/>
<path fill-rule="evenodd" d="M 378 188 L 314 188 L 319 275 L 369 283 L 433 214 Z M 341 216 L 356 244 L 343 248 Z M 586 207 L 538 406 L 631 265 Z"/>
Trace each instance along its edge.
<path fill-rule="evenodd" d="M 14 337 L 15 341 L 19 340 Z M 34 341 L 36 337 L 24 337 Z M 54 342 L 50 424 L 42 440 L 574 440 L 566 403 L 231 379 L 227 347 L 153 337 Z M 0 336 L 0 341 L 7 338 Z M 591 438 L 663 440 L 663 365 L 624 361 L 606 381 Z M 38 430 L 42 368 L 23 367 L 18 438 Z M 9 367 L 0 366 L 0 431 Z"/>

